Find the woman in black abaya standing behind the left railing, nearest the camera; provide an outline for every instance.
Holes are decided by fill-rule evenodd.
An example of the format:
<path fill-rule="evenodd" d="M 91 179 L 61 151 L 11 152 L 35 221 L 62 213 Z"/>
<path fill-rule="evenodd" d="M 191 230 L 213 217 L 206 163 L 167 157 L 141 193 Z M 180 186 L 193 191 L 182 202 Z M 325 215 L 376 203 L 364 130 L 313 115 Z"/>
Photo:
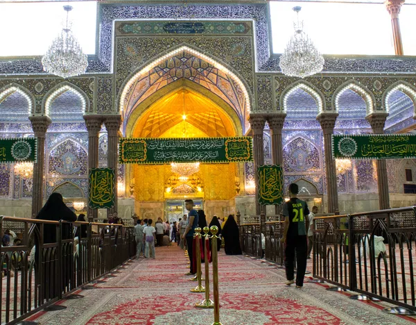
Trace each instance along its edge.
<path fill-rule="evenodd" d="M 66 222 L 75 222 L 76 221 L 76 214 L 73 213 L 67 205 L 64 203 L 64 199 L 62 197 L 62 194 L 60 193 L 52 193 L 49 197 L 48 201 L 46 201 L 44 207 L 40 210 L 39 214 L 37 215 L 36 219 L 42 219 L 42 220 L 49 220 L 49 221 L 55 221 L 58 222 L 60 220 L 64 220 Z M 40 227 L 41 225 L 37 225 Z M 51 244 L 58 241 L 58 238 L 56 238 L 56 232 L 58 230 L 58 226 L 56 224 L 44 224 L 44 244 Z M 67 240 L 72 238 L 72 224 L 62 224 L 62 240 Z M 35 245 L 36 245 L 36 251 L 35 251 L 35 261 L 36 261 L 36 267 L 39 269 L 39 254 L 43 253 L 40 249 L 40 242 L 39 238 L 35 236 Z M 73 251 L 72 247 L 69 247 L 70 251 Z M 69 251 L 69 249 L 68 249 Z M 58 253 L 58 250 L 56 251 Z M 42 256 L 48 256 L 49 254 L 42 254 Z M 63 252 L 64 256 L 69 256 L 71 258 L 71 254 L 67 254 Z M 57 256 L 56 256 L 57 257 Z M 53 258 L 51 258 L 53 259 Z M 71 277 L 71 270 L 69 269 L 69 265 L 71 265 L 71 261 L 63 260 L 63 285 L 69 286 L 69 279 Z M 53 299 L 58 294 L 59 290 L 64 290 L 64 288 L 53 288 L 53 283 L 55 283 L 54 276 L 57 276 L 55 274 L 55 263 L 51 261 L 42 260 L 42 264 L 44 265 L 44 292 L 43 292 L 43 298 L 46 300 Z M 43 301 L 42 301 L 43 303 Z"/>

